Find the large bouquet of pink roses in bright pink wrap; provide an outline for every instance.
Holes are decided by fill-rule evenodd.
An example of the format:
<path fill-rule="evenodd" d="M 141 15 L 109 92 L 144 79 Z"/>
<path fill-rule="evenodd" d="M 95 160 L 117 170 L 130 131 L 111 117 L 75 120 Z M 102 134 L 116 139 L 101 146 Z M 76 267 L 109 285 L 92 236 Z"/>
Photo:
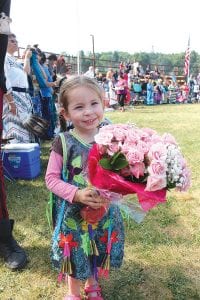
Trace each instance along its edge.
<path fill-rule="evenodd" d="M 111 124 L 100 128 L 88 159 L 90 183 L 121 195 L 137 194 L 144 211 L 166 201 L 166 191 L 186 191 L 190 172 L 175 138 L 150 128 Z"/>

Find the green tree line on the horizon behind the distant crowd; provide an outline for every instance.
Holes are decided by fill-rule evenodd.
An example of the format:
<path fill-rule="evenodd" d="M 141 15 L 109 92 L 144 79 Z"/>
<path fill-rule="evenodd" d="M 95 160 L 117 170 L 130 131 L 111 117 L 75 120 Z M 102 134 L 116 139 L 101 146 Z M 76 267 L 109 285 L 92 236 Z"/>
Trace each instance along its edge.
<path fill-rule="evenodd" d="M 66 52 L 62 55 L 66 57 L 66 60 L 74 65 L 76 68 L 77 57 L 70 56 Z M 120 62 L 139 62 L 142 67 L 145 68 L 147 65 L 150 66 L 151 70 L 157 66 L 161 73 L 163 74 L 175 74 L 183 75 L 184 62 L 185 62 L 185 52 L 181 53 L 155 53 L 155 52 L 136 52 L 130 54 L 128 52 L 102 52 L 102 53 L 84 53 L 83 50 L 79 52 L 79 65 L 81 72 L 86 72 L 90 65 L 94 65 L 101 72 L 106 72 L 108 68 L 119 69 Z M 196 76 L 200 71 L 200 55 L 196 51 L 191 51 L 190 54 L 190 74 Z"/>

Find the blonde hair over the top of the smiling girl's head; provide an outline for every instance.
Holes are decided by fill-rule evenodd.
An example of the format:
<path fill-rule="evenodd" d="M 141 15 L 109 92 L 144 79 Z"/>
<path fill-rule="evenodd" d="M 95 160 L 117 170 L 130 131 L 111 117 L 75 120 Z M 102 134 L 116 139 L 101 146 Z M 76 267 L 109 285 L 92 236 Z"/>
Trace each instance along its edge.
<path fill-rule="evenodd" d="M 104 99 L 104 90 L 103 88 L 98 84 L 98 82 L 90 77 L 84 76 L 84 75 L 76 75 L 71 76 L 69 79 L 65 80 L 63 85 L 60 88 L 60 94 L 59 94 L 59 103 L 62 108 L 64 108 L 65 111 L 68 111 L 68 94 L 71 90 L 77 88 L 77 87 L 88 87 L 94 92 L 97 93 L 99 98 L 102 100 Z"/>

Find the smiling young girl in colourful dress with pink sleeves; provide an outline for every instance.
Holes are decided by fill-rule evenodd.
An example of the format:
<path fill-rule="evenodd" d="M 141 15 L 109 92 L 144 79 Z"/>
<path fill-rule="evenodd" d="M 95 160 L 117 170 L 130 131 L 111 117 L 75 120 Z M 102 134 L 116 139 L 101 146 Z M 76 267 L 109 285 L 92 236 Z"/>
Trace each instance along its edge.
<path fill-rule="evenodd" d="M 65 299 L 81 299 L 84 282 L 87 299 L 102 300 L 98 275 L 107 274 L 109 260 L 111 267 L 120 267 L 124 254 L 123 221 L 116 205 L 110 205 L 95 224 L 81 217 L 83 207 L 95 213 L 106 202 L 86 178 L 88 153 L 103 118 L 103 99 L 101 87 L 86 76 L 69 78 L 60 91 L 63 114 L 74 129 L 55 138 L 46 185 L 54 193 L 52 262 L 61 270 L 59 279 L 68 275 Z"/>

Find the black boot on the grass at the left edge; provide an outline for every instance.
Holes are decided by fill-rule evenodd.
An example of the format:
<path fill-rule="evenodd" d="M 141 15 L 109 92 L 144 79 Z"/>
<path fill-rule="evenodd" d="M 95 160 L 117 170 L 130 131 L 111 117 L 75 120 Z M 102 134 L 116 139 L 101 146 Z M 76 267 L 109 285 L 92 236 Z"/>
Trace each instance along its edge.
<path fill-rule="evenodd" d="M 21 270 L 27 264 L 25 251 L 19 246 L 13 237 L 0 242 L 0 257 L 3 257 L 6 265 L 11 270 Z"/>

